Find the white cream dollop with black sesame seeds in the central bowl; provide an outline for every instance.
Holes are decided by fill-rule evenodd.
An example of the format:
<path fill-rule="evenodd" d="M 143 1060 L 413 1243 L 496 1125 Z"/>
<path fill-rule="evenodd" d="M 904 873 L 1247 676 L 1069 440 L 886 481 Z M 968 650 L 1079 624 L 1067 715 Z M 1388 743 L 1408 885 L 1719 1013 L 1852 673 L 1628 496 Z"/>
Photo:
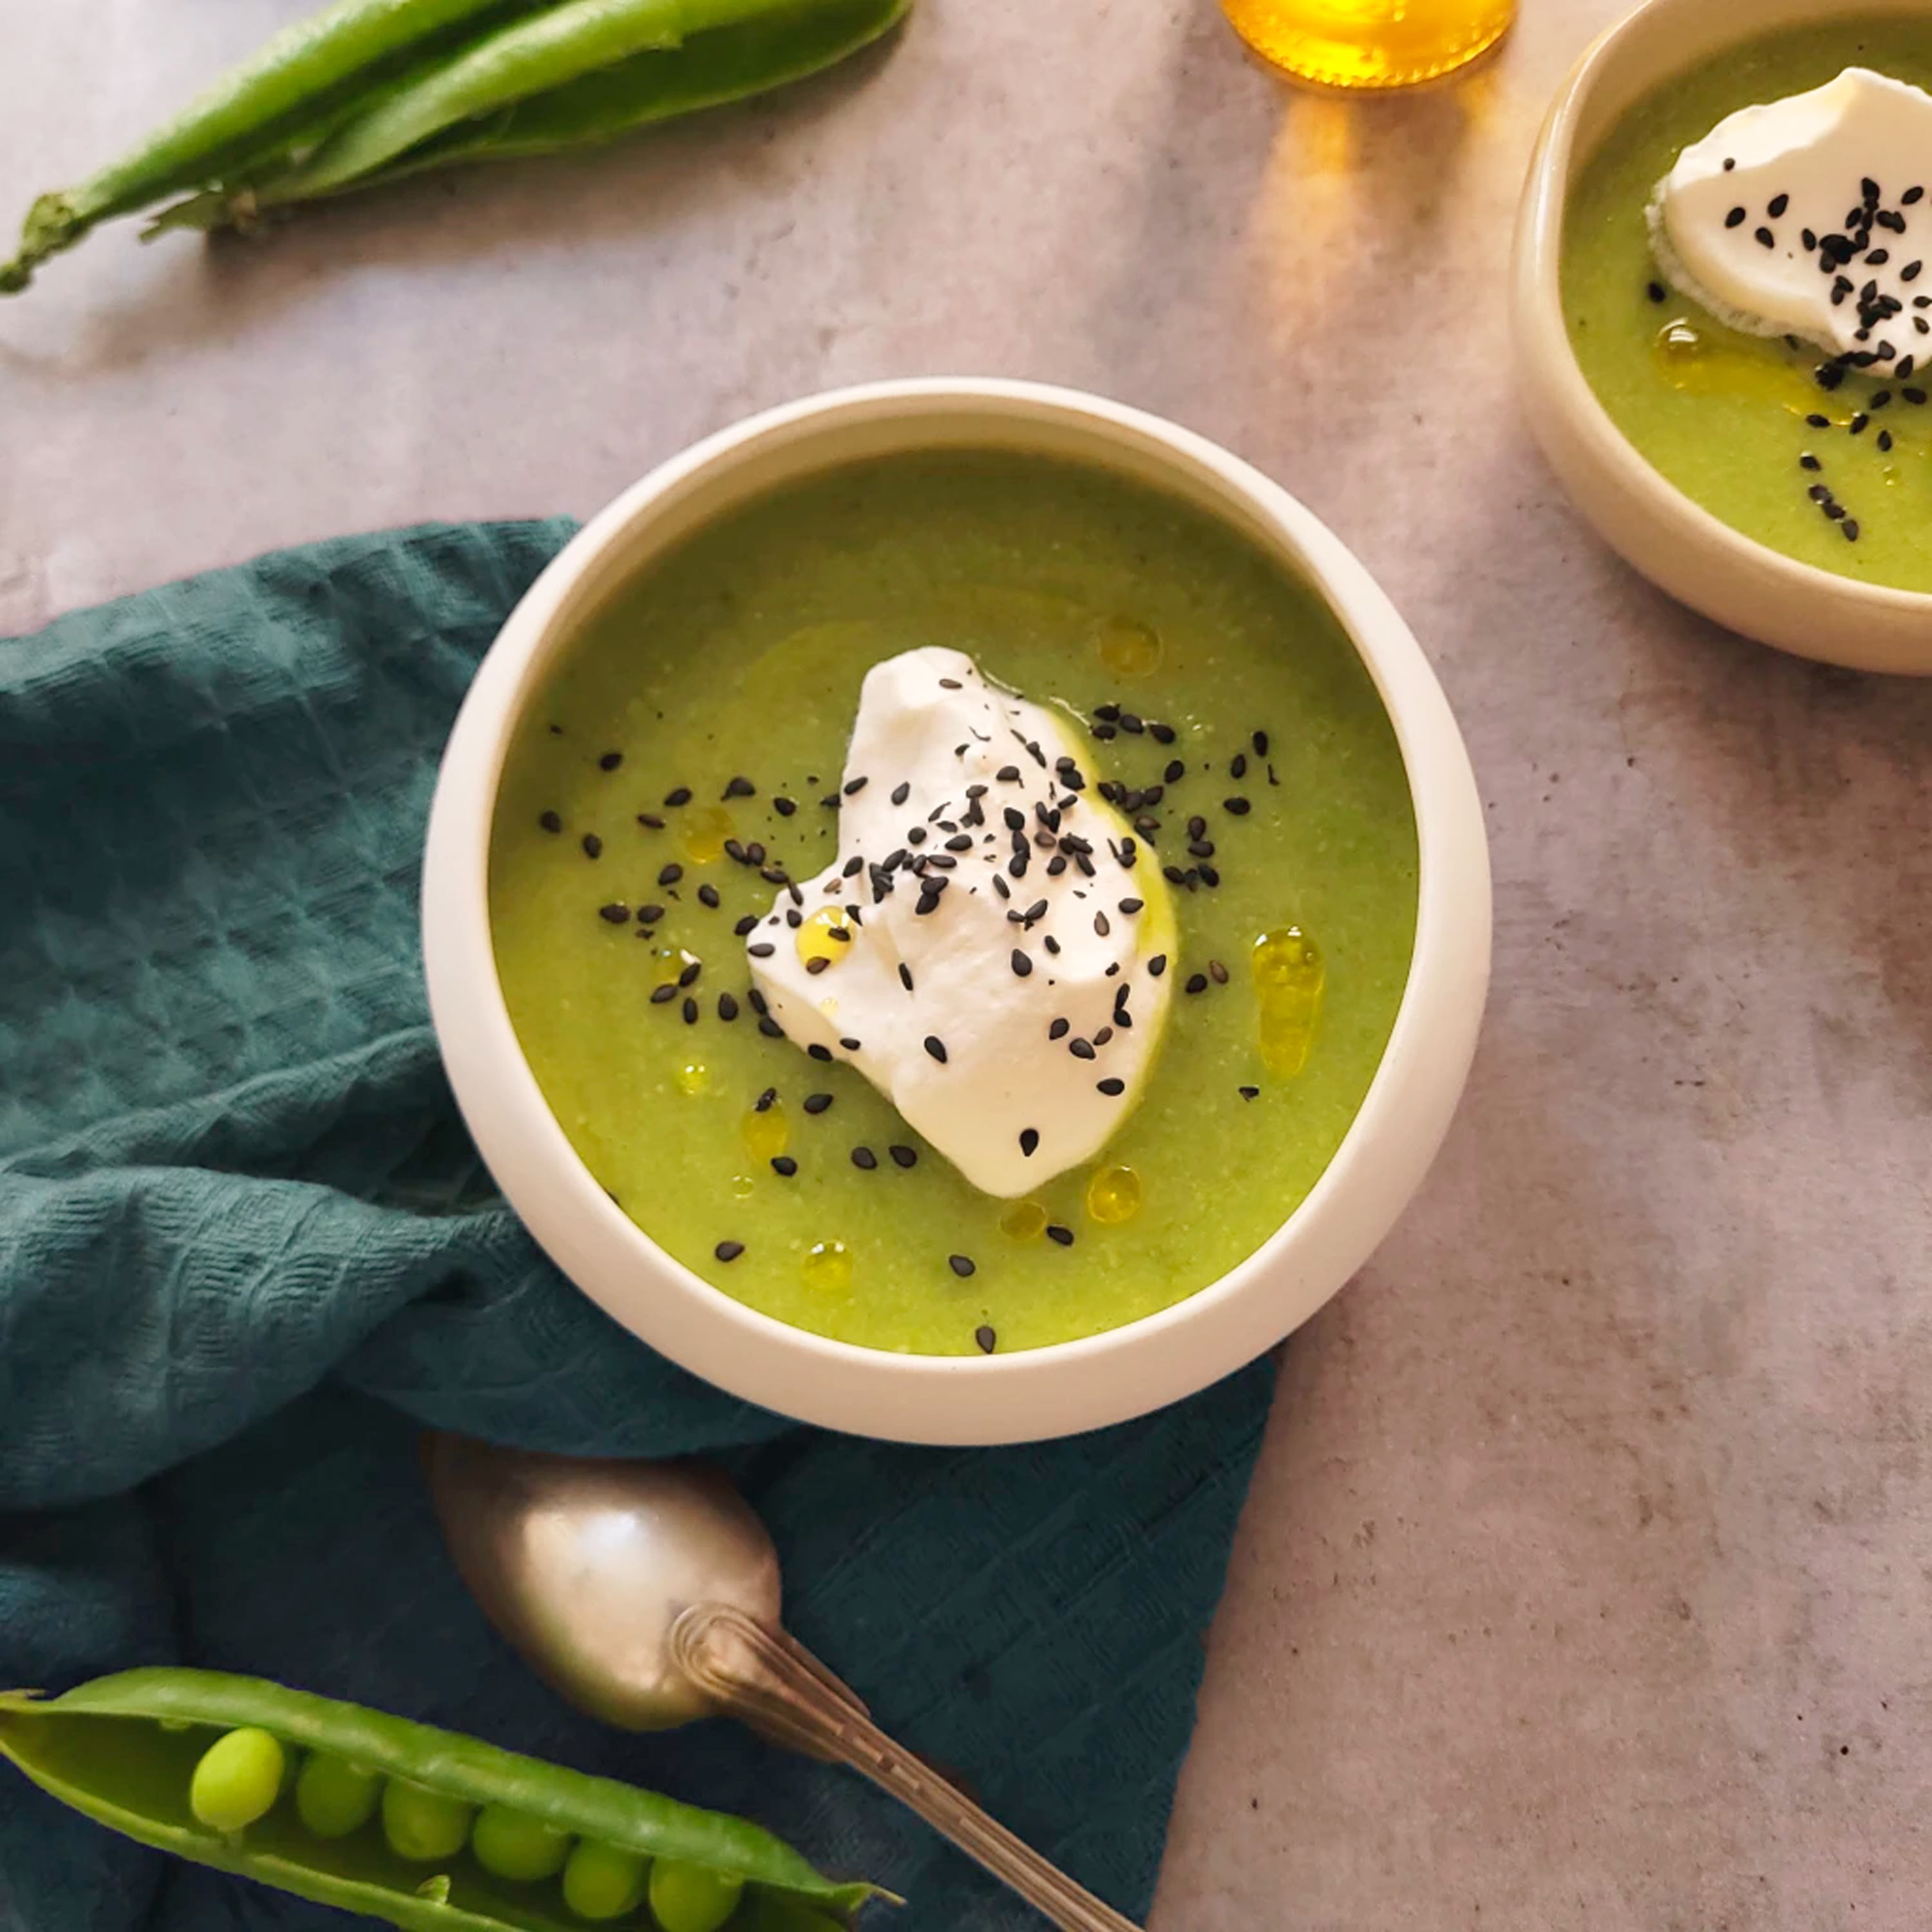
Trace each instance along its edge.
<path fill-rule="evenodd" d="M 1095 779 L 1070 719 L 962 651 L 873 665 L 838 858 L 746 939 L 786 1036 L 850 1061 L 985 1194 L 1092 1159 L 1167 1022 L 1173 902 Z"/>

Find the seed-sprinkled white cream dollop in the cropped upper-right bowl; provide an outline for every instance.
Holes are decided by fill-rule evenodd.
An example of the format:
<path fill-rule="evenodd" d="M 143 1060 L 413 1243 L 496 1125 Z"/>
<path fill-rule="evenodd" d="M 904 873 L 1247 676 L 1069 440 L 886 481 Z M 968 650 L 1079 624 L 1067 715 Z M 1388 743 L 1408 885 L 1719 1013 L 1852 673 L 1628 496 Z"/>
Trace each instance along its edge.
<path fill-rule="evenodd" d="M 1725 116 L 1650 203 L 1658 267 L 1748 334 L 1857 367 L 1932 348 L 1932 95 L 1870 68 Z"/>

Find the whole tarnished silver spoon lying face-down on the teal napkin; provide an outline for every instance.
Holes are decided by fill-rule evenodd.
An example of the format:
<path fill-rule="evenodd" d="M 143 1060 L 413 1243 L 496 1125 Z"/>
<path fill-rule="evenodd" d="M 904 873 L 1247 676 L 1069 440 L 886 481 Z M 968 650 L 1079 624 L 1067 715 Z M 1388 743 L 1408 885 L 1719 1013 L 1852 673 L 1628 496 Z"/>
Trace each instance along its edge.
<path fill-rule="evenodd" d="M 560 1696 L 628 1731 L 726 1712 L 848 1764 L 1063 1932 L 1136 1932 L 900 1750 L 779 1625 L 779 1553 L 701 1463 L 611 1463 L 429 1435 L 429 1490 L 483 1613 Z"/>

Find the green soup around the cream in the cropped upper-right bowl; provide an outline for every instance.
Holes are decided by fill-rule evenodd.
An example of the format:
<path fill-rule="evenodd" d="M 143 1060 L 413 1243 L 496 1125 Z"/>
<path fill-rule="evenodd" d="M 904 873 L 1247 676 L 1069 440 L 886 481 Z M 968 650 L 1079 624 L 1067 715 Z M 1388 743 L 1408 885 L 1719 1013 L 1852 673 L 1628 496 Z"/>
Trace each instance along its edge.
<path fill-rule="evenodd" d="M 1932 14 L 1766 35 L 1640 100 L 1571 191 L 1563 313 L 1598 400 L 1692 502 L 1799 562 L 1932 591 L 1932 408 L 1917 386 L 1932 371 L 1903 381 L 1851 371 L 1820 388 L 1816 346 L 1741 334 L 1667 290 L 1644 224 L 1656 184 L 1719 120 L 1849 66 L 1932 87 Z M 1932 350 L 1911 317 L 1899 328 L 1907 352 Z M 1843 516 L 1824 512 L 1812 495 L 1824 489 Z"/>

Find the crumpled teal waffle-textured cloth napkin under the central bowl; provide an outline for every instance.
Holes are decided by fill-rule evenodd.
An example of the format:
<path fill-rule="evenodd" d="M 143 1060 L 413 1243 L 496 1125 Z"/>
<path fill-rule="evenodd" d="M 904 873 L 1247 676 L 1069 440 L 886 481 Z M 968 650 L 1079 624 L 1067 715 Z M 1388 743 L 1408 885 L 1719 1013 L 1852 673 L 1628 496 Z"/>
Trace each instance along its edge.
<path fill-rule="evenodd" d="M 701 1451 L 798 1634 L 1144 1915 L 1269 1368 L 1074 1441 L 889 1447 L 703 1387 L 545 1262 L 444 1086 L 415 893 L 456 705 L 566 535 L 323 543 L 0 641 L 0 1685 L 261 1671 L 750 1812 L 916 1932 L 1037 1924 L 848 1774 L 564 1708 L 413 1463 L 423 1424 Z M 0 1766 L 8 1932 L 342 1922 Z"/>

